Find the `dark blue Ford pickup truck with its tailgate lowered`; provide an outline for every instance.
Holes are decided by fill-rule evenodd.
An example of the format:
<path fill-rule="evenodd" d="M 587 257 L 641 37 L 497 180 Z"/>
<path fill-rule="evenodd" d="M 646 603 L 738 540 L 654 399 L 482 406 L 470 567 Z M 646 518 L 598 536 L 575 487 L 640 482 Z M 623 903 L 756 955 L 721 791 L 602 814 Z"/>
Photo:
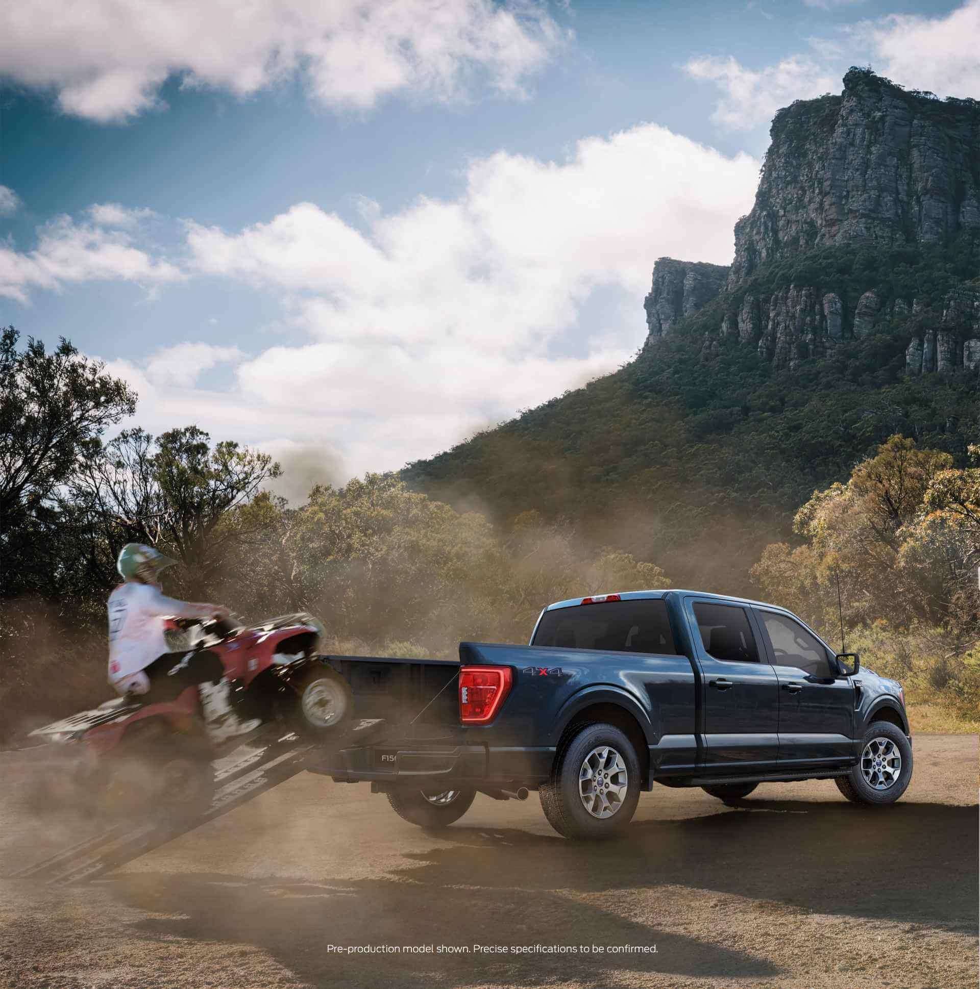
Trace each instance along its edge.
<path fill-rule="evenodd" d="M 423 827 L 458 820 L 477 792 L 538 790 L 557 832 L 603 838 L 654 783 L 737 803 L 762 782 L 833 778 L 854 803 L 891 804 L 912 777 L 901 685 L 760 601 L 578 597 L 544 608 L 528 646 L 325 662 L 380 731 L 319 771 L 369 781 Z"/>

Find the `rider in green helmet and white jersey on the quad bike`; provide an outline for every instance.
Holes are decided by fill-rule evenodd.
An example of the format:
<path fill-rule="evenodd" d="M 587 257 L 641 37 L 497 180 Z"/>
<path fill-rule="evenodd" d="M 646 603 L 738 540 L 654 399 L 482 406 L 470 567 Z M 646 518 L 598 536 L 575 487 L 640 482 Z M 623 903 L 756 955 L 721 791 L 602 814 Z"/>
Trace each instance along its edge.
<path fill-rule="evenodd" d="M 109 682 L 117 693 L 138 695 L 141 703 L 175 700 L 188 686 L 201 695 L 212 741 L 222 742 L 258 727 L 243 721 L 231 703 L 231 684 L 220 658 L 206 649 L 170 652 L 164 635 L 167 618 L 227 619 L 228 608 L 166 597 L 159 575 L 176 560 L 151 546 L 127 543 L 116 569 L 123 584 L 109 595 Z"/>

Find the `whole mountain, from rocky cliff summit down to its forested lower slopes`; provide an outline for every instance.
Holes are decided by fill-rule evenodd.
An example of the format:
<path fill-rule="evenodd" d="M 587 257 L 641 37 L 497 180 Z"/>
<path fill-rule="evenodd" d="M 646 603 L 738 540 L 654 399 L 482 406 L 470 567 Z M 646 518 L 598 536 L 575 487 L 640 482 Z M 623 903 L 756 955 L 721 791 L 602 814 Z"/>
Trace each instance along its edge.
<path fill-rule="evenodd" d="M 797 508 L 889 436 L 958 464 L 980 438 L 978 190 L 980 105 L 852 69 L 776 116 L 727 281 L 658 260 L 635 361 L 402 476 L 747 591 Z"/>

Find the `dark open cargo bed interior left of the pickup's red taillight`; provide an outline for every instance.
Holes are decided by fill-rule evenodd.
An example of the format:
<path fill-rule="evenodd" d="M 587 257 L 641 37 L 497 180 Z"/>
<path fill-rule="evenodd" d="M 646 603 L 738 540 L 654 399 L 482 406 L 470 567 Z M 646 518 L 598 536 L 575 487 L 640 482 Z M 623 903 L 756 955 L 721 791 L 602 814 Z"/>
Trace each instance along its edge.
<path fill-rule="evenodd" d="M 457 660 L 400 660 L 325 656 L 343 675 L 354 699 L 354 717 L 384 718 L 415 730 L 459 726 Z"/>

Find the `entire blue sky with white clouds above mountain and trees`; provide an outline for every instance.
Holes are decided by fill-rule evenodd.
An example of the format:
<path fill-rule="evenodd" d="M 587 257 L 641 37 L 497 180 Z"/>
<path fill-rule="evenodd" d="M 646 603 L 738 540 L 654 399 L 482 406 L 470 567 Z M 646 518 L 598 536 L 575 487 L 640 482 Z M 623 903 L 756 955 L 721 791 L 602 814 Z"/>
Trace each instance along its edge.
<path fill-rule="evenodd" d="M 654 259 L 727 263 L 772 112 L 848 65 L 980 96 L 977 0 L 72 9 L 0 11 L 0 324 L 303 484 L 629 359 Z"/>

